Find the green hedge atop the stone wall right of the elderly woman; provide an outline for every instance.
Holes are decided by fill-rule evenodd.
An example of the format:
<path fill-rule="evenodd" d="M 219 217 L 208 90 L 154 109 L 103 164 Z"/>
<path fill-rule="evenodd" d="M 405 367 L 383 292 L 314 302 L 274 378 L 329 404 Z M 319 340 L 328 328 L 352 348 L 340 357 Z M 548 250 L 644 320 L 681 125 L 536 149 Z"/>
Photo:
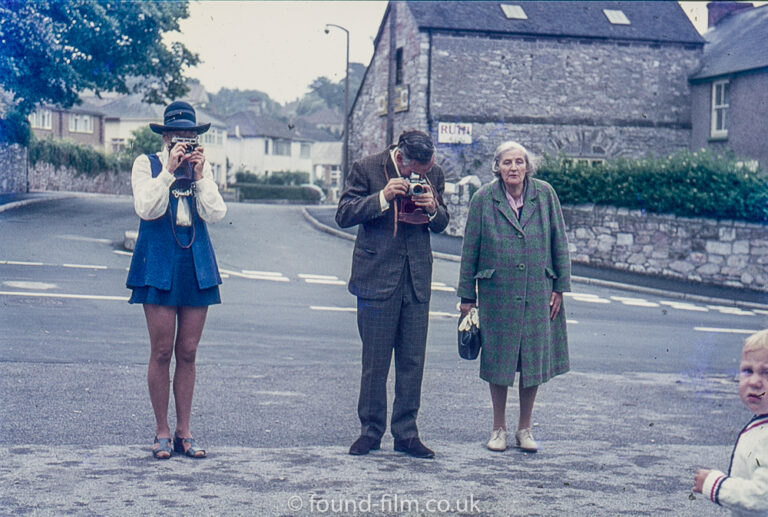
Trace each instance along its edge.
<path fill-rule="evenodd" d="M 709 151 L 572 164 L 545 156 L 537 177 L 563 204 L 595 203 L 686 217 L 768 221 L 768 177 Z"/>

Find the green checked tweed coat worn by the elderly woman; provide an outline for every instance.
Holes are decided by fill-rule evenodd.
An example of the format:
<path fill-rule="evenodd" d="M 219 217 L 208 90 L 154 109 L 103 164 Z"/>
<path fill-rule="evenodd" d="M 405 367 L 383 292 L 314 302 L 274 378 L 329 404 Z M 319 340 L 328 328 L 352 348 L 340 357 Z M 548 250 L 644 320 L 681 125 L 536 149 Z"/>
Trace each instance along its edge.
<path fill-rule="evenodd" d="M 457 294 L 477 300 L 480 377 L 511 386 L 520 361 L 520 382 L 527 388 L 569 369 L 565 302 L 551 320 L 549 298 L 552 291 L 571 290 L 571 260 L 552 186 L 529 178 L 523 195 L 519 221 L 501 180 L 472 197 Z"/>

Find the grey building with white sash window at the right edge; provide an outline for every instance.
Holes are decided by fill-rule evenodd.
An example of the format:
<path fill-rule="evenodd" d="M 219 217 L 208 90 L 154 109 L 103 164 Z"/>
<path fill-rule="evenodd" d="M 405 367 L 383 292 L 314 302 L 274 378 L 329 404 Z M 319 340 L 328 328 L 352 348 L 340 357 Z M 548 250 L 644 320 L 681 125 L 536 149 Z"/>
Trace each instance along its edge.
<path fill-rule="evenodd" d="M 691 148 L 733 151 L 768 169 L 768 6 L 710 2 L 691 78 Z"/>

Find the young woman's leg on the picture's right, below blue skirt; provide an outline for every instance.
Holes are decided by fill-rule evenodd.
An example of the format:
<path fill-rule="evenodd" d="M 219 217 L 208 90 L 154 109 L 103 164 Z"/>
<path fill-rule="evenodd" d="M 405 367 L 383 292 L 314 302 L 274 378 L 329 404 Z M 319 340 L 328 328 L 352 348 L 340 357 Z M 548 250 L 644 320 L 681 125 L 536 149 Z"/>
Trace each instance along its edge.
<path fill-rule="evenodd" d="M 208 307 L 179 307 L 173 396 L 176 401 L 176 436 L 181 438 L 192 437 L 189 419 L 195 391 L 195 356 L 207 314 Z"/>

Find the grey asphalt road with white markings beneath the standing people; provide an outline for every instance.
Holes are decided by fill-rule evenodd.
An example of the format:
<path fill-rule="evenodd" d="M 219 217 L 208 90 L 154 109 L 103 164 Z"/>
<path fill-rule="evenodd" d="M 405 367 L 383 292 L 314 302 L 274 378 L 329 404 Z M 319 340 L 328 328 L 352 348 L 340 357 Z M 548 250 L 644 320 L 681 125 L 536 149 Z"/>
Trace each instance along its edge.
<path fill-rule="evenodd" d="M 403 457 L 387 438 L 355 458 L 351 243 L 298 207 L 232 205 L 212 226 L 225 303 L 193 409 L 210 458 L 153 461 L 146 329 L 120 249 L 136 226 L 127 198 L 0 213 L 0 514 L 720 514 L 691 499 L 691 475 L 727 467 L 749 416 L 738 350 L 764 311 L 578 285 L 572 372 L 534 415 L 542 450 L 494 454 L 487 388 L 455 350 L 458 265 L 438 260 L 419 416 L 438 456 Z"/>

